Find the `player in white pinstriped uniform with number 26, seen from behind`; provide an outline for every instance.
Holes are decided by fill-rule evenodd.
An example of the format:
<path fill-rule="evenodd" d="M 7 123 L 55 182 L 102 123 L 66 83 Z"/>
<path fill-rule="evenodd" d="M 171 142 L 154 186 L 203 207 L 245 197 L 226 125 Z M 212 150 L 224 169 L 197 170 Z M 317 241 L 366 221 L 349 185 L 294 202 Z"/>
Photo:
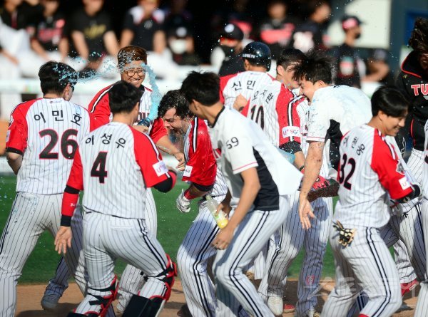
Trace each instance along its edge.
<path fill-rule="evenodd" d="M 43 98 L 20 103 L 11 113 L 6 157 L 17 175 L 16 197 L 0 240 L 0 316 L 14 316 L 16 284 L 40 235 L 55 236 L 60 225 L 62 189 L 78 142 L 89 132 L 88 111 L 70 103 L 76 72 L 63 63 L 48 62 L 39 71 Z M 74 208 L 70 209 L 71 215 Z M 81 236 L 81 214 L 73 217 L 73 232 Z M 65 262 L 84 293 L 81 241 L 73 241 Z"/>

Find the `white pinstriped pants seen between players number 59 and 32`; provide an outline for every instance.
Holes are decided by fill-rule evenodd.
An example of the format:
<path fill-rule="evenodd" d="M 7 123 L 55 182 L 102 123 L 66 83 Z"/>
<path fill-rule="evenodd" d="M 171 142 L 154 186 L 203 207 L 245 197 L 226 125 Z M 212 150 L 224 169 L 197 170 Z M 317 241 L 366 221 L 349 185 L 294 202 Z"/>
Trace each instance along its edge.
<path fill-rule="evenodd" d="M 265 301 L 270 296 L 282 297 L 283 281 L 287 277 L 287 271 L 302 246 L 305 246 L 295 313 L 295 316 L 305 316 L 307 311 L 317 306 L 322 261 L 331 226 L 332 198 L 319 198 L 312 202 L 317 218 L 312 219 L 312 227 L 309 230 L 304 230 L 300 224 L 298 212 L 299 193 L 290 195 L 290 212 L 275 233 L 275 244 L 272 245 L 271 242 L 267 252 L 268 268 L 258 292 Z"/>

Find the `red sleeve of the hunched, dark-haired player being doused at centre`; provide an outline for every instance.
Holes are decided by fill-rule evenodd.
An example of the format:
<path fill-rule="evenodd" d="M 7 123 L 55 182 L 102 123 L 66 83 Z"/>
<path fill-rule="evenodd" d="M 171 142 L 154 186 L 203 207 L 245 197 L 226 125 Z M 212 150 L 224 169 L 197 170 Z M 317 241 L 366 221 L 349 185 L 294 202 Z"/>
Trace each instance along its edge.
<path fill-rule="evenodd" d="M 215 183 L 217 165 L 213 155 L 210 135 L 205 122 L 193 120 L 192 130 L 189 133 L 189 160 L 183 172 L 183 181 L 198 185 L 210 186 Z"/>

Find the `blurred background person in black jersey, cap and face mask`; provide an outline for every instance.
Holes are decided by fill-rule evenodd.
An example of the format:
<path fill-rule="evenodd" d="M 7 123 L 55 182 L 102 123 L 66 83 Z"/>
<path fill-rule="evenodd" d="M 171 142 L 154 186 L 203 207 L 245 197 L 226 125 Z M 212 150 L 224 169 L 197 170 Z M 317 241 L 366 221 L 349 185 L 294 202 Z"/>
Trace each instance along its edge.
<path fill-rule="evenodd" d="M 361 36 L 362 22 L 357 16 L 344 16 L 342 29 L 345 32 L 345 42 L 335 51 L 337 60 L 336 85 L 349 85 L 360 88 L 359 64 L 364 63 L 355 49 L 355 41 Z"/>

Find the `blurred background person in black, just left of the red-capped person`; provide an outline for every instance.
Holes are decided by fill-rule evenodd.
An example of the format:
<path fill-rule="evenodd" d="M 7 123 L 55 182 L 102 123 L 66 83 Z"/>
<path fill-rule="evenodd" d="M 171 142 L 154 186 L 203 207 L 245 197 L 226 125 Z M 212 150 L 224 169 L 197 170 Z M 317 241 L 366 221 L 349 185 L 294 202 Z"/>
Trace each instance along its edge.
<path fill-rule="evenodd" d="M 307 2 L 308 19 L 297 26 L 292 36 L 292 46 L 306 53 L 312 48 L 327 50 L 325 23 L 330 19 L 331 7 L 328 0 L 310 0 Z"/>

